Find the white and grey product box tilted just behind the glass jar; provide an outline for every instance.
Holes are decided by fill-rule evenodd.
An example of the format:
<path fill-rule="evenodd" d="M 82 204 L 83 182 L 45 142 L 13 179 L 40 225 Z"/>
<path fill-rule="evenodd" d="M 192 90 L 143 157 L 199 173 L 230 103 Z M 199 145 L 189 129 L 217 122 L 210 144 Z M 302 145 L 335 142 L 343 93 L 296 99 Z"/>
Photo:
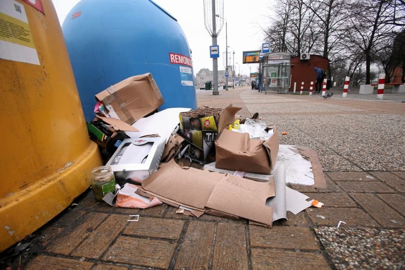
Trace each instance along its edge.
<path fill-rule="evenodd" d="M 154 173 L 165 149 L 161 137 L 125 139 L 107 162 L 119 185 L 127 182 L 141 183 Z"/>

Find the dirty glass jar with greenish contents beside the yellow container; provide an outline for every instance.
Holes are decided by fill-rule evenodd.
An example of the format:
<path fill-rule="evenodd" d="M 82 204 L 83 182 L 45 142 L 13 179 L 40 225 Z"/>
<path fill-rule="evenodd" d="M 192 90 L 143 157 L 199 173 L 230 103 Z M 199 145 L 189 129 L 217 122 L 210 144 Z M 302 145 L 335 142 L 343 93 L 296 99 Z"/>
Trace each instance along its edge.
<path fill-rule="evenodd" d="M 92 189 L 97 201 L 103 201 L 104 195 L 114 192 L 115 177 L 110 166 L 100 166 L 92 170 Z"/>

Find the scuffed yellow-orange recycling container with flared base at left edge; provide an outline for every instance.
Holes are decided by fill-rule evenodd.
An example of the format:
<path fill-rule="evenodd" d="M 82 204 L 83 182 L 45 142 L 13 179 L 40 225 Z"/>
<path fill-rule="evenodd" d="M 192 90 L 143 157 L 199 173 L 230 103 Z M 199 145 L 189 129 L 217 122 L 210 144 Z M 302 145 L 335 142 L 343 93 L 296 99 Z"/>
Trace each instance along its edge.
<path fill-rule="evenodd" d="M 101 165 L 51 0 L 0 1 L 0 251 L 85 191 Z"/>

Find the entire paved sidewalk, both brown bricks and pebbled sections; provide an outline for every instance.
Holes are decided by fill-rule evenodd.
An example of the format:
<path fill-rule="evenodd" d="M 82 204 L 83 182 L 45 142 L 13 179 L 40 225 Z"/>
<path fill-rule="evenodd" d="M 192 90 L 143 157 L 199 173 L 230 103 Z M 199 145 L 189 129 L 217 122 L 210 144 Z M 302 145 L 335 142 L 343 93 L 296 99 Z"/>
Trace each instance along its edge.
<path fill-rule="evenodd" d="M 167 205 L 112 208 L 89 189 L 25 239 L 22 252 L 4 252 L 3 268 L 405 268 L 405 94 L 373 100 L 335 93 L 324 100 L 250 87 L 219 96 L 197 91 L 199 105 L 232 104 L 245 117 L 259 112 L 277 125 L 280 144 L 318 151 L 328 188 L 292 187 L 325 208 L 288 213 L 288 220 L 264 228 L 244 219 L 179 215 Z M 128 222 L 134 214 L 139 221 Z M 337 228 L 339 221 L 345 223 Z"/>

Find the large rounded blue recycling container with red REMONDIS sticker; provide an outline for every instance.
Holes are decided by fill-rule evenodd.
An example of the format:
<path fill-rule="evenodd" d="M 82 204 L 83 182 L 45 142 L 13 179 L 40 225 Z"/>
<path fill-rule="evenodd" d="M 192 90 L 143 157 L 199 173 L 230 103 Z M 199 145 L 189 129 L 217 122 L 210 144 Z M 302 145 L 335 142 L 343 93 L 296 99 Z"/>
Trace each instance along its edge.
<path fill-rule="evenodd" d="M 177 20 L 151 0 L 82 0 L 62 31 L 85 118 L 95 94 L 130 76 L 152 73 L 165 99 L 159 109 L 196 108 L 187 38 Z"/>

